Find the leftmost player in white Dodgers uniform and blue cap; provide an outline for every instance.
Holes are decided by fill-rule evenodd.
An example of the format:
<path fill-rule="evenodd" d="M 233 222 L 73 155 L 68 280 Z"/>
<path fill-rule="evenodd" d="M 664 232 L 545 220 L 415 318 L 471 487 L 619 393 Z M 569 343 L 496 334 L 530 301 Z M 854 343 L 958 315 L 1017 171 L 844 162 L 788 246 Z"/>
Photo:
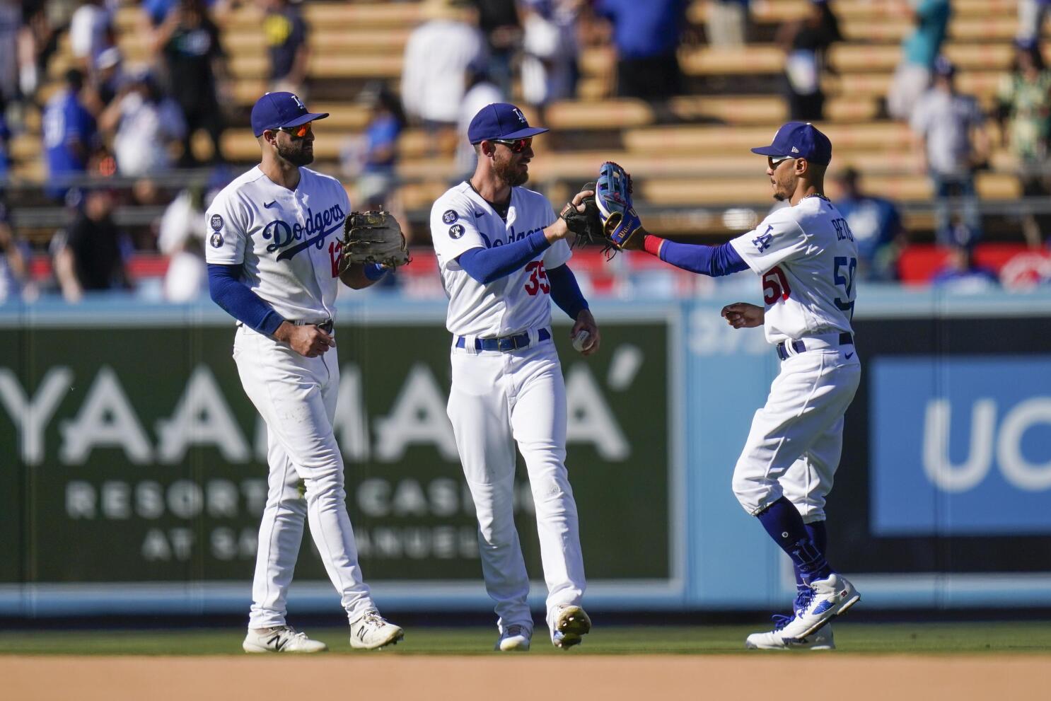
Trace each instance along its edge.
<path fill-rule="evenodd" d="M 233 358 L 267 425 L 269 492 L 243 644 L 249 653 L 326 650 L 285 620 L 304 520 L 347 611 L 351 646 L 382 647 L 403 637 L 379 616 L 362 578 L 332 431 L 338 281 L 360 289 L 385 271 L 339 270 L 347 192 L 334 178 L 304 167 L 313 162 L 311 123 L 326 117 L 291 92 L 260 98 L 251 123 L 262 163 L 224 188 L 206 212 L 211 296 L 238 319 Z"/>

